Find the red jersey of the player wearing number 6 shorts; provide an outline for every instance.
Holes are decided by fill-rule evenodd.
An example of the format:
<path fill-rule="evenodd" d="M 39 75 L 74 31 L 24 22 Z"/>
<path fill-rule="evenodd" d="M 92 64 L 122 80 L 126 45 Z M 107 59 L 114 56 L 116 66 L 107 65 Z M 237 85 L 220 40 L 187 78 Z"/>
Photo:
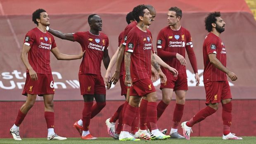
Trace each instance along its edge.
<path fill-rule="evenodd" d="M 30 46 L 28 62 L 36 73 L 51 74 L 50 50 L 56 47 L 53 36 L 33 28 L 25 36 L 24 45 Z M 28 73 L 28 70 L 27 70 Z"/>

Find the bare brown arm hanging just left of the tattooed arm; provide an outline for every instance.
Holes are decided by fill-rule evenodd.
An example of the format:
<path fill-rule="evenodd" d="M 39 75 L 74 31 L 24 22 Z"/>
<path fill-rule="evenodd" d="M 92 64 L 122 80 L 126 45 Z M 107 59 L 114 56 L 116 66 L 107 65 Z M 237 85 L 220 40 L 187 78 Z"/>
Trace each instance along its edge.
<path fill-rule="evenodd" d="M 116 58 L 116 70 L 111 78 L 111 82 L 113 82 L 113 84 L 115 85 L 118 80 L 119 80 L 119 76 L 120 76 L 120 67 L 121 67 L 121 63 L 122 63 L 122 60 L 123 60 L 123 53 L 124 53 L 124 50 L 126 49 L 125 45 L 121 44 L 119 46 L 119 49 L 118 49 L 118 54 L 117 54 L 117 58 Z"/>

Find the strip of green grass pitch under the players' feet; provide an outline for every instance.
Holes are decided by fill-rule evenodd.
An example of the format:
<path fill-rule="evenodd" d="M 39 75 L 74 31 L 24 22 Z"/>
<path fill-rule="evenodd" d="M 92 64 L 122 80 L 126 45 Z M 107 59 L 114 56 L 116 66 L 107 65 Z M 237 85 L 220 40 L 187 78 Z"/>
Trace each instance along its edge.
<path fill-rule="evenodd" d="M 167 139 L 158 141 L 121 142 L 112 138 L 98 138 L 97 140 L 82 140 L 68 138 L 64 141 L 47 141 L 46 138 L 24 138 L 22 141 L 0 139 L 0 144 L 256 144 L 256 137 L 243 137 L 243 140 L 222 140 L 221 137 L 191 137 L 186 139 Z"/>

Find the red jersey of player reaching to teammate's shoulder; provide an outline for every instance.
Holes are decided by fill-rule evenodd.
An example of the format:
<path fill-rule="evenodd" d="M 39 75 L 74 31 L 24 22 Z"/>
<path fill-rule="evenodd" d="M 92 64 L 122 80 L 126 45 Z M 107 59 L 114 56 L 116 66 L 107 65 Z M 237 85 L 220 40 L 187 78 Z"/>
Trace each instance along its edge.
<path fill-rule="evenodd" d="M 80 65 L 79 74 L 101 75 L 101 61 L 104 50 L 109 46 L 109 38 L 104 33 L 93 35 L 89 31 L 73 34 L 74 40 L 79 42 L 85 55 Z"/>

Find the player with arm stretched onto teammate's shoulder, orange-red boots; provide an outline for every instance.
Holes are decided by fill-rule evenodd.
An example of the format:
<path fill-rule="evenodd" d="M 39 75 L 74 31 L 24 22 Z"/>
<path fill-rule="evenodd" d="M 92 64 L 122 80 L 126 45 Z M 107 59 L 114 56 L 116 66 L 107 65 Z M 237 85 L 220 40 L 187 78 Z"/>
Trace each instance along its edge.
<path fill-rule="evenodd" d="M 62 33 L 49 29 L 58 38 L 80 43 L 85 56 L 81 62 L 78 78 L 81 95 L 83 95 L 83 118 L 74 123 L 81 139 L 97 139 L 89 132 L 90 119 L 96 116 L 106 106 L 106 87 L 101 76 L 101 61 L 107 69 L 109 65 L 109 39 L 102 30 L 102 19 L 97 14 L 88 17 L 90 31 L 77 33 Z M 93 105 L 93 99 L 96 104 Z M 82 132 L 83 131 L 83 132 Z"/>

